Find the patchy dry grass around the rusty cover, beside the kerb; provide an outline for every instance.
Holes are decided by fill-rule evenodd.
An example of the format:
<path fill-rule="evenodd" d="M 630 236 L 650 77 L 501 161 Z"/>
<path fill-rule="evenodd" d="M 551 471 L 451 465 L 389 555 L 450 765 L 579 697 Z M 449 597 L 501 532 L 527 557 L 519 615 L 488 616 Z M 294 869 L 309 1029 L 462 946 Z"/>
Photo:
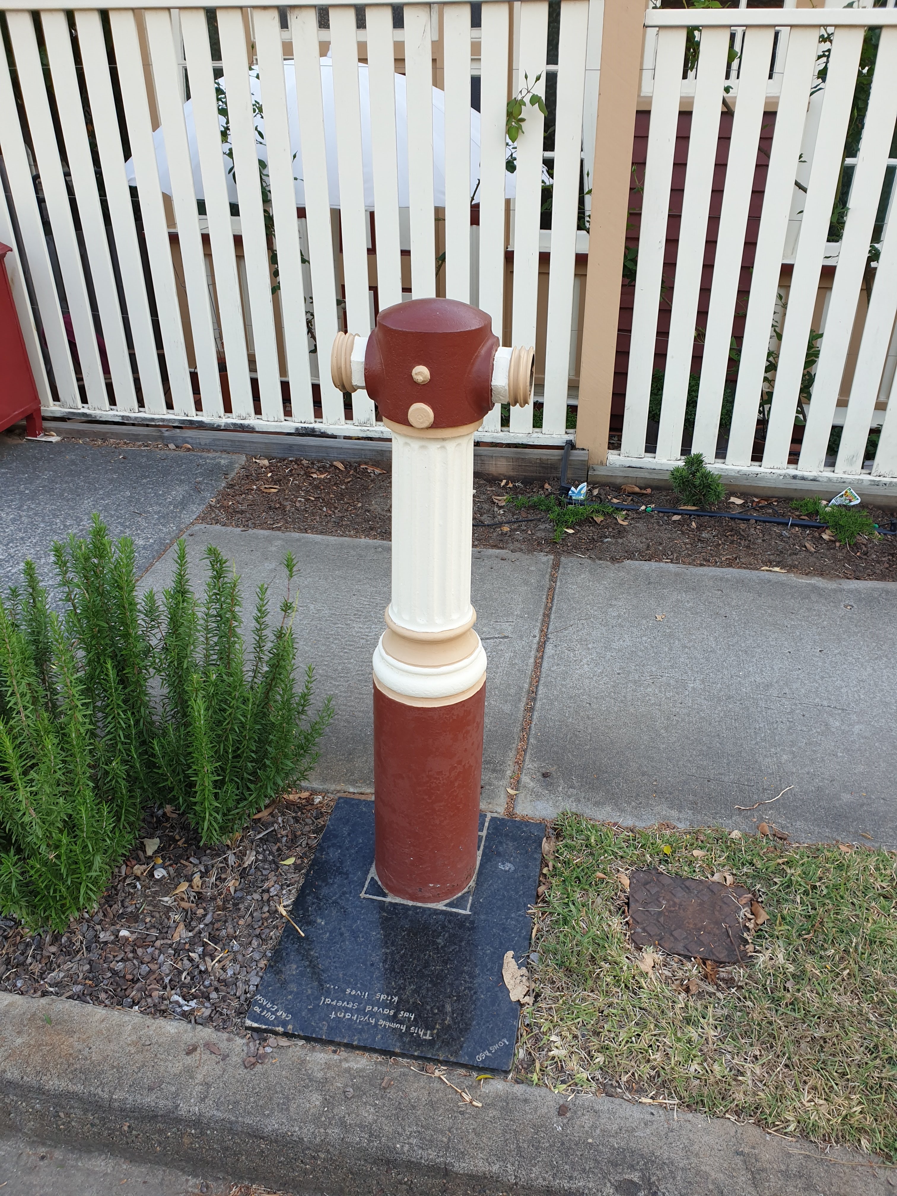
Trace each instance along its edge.
<path fill-rule="evenodd" d="M 524 1074 L 559 1091 L 614 1086 L 897 1160 L 895 853 L 621 830 L 574 814 L 557 830 L 537 910 Z M 615 877 L 643 867 L 727 869 L 750 889 L 769 916 L 751 964 L 720 965 L 712 981 L 697 962 L 660 954 L 642 971 Z"/>

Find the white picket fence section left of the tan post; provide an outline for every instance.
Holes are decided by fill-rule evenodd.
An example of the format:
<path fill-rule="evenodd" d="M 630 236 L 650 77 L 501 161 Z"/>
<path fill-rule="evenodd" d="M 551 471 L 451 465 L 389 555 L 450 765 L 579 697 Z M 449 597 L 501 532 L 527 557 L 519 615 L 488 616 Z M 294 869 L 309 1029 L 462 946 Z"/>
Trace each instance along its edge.
<path fill-rule="evenodd" d="M 330 380 L 329 353 L 337 328 L 370 331 L 374 286 L 379 307 L 438 291 L 443 267 L 434 220 L 437 29 L 432 22 L 440 18 L 439 8 L 445 155 L 437 166 L 446 175 L 439 285 L 450 298 L 470 301 L 472 293 L 492 315 L 499 336 L 509 300 L 513 343 L 533 344 L 539 250 L 550 249 L 544 426 L 533 433 L 532 407 L 514 408 L 509 429 L 502 433 L 496 409 L 484 432 L 518 443 L 532 437 L 562 441 L 578 294 L 574 261 L 585 236 L 580 230 L 578 246 L 584 109 L 592 136 L 594 128 L 597 84 L 587 98 L 586 53 L 591 36 L 594 56 L 603 4 L 562 0 L 560 48 L 551 63 L 548 0 L 526 0 L 517 6 L 517 17 L 509 7 L 487 0 L 482 28 L 472 31 L 480 41 L 482 80 L 481 154 L 472 167 L 469 4 L 404 6 L 407 136 L 397 132 L 396 43 L 386 4 L 367 5 L 364 33 L 356 30 L 353 6 L 343 0 L 331 4 L 327 35 L 318 30 L 315 7 L 219 5 L 218 75 L 224 73 L 224 89 L 219 85 L 218 91 L 213 65 L 218 47 L 213 55 L 205 7 L 188 4 L 171 10 L 152 2 L 141 10 L 110 7 L 108 25 L 104 12 L 77 0 L 59 0 L 39 14 L 6 11 L 14 69 L 7 69 L 6 60 L 0 63 L 0 148 L 39 310 L 36 331 L 28 304 L 19 307 L 31 325 L 26 335 L 45 410 L 63 408 L 132 422 L 385 434 L 364 392 L 352 396 L 350 414 L 346 411 L 343 395 Z M 592 29 L 591 35 L 590 7 L 598 14 L 598 31 Z M 330 41 L 335 130 L 325 127 L 322 36 Z M 292 49 L 292 67 L 285 47 Z M 359 71 L 360 49 L 366 77 L 364 68 Z M 147 51 L 151 71 L 145 71 Z M 531 81 L 542 73 L 541 93 L 547 71 L 557 79 L 557 134 L 547 159 L 554 175 L 548 245 L 539 227 L 543 117 L 537 108 L 526 108 L 515 172 L 509 175 L 505 166 L 509 66 L 512 94 L 524 85 L 524 73 Z M 289 69 L 295 78 L 293 93 Z M 185 120 L 185 79 L 195 141 Z M 360 85 L 364 91 L 368 80 L 370 120 L 360 97 Z M 238 218 L 227 194 L 230 164 L 221 148 L 219 102 L 225 92 Z M 164 138 L 164 163 L 153 140 L 153 109 Z M 256 166 L 262 121 L 260 157 L 267 164 L 262 173 L 269 196 L 263 195 Z M 297 123 L 300 158 L 291 145 L 289 128 Z M 332 173 L 328 179 L 328 139 L 334 134 L 338 197 L 331 194 Z M 373 225 L 365 207 L 362 140 L 372 150 Z M 330 152 L 332 157 L 332 146 Z M 129 155 L 138 221 L 126 171 Z M 160 165 L 170 178 L 170 199 Z M 401 210 L 397 175 L 405 170 L 408 207 Z M 304 185 L 304 210 L 297 206 L 294 176 Z M 197 207 L 197 179 L 205 214 Z M 507 179 L 515 184 L 509 240 Z M 480 222 L 471 230 L 474 191 Z M 11 212 L 1 196 L 0 239 L 16 244 Z M 404 291 L 403 240 L 410 248 L 410 289 Z M 506 295 L 509 246 L 513 291 Z M 275 294 L 274 249 L 280 285 Z M 307 313 L 313 313 L 319 352 L 306 335 Z"/>

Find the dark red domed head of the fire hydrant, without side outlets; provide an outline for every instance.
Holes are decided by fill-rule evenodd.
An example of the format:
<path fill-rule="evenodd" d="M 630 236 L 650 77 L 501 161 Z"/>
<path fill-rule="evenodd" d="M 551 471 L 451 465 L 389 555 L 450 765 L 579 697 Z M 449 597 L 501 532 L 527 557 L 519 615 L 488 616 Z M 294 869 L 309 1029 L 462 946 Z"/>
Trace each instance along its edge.
<path fill-rule="evenodd" d="M 490 317 L 469 304 L 396 304 L 379 313 L 367 338 L 365 388 L 392 423 L 411 427 L 409 410 L 426 404 L 433 420 L 419 427 L 463 428 L 492 410 L 498 347 Z"/>

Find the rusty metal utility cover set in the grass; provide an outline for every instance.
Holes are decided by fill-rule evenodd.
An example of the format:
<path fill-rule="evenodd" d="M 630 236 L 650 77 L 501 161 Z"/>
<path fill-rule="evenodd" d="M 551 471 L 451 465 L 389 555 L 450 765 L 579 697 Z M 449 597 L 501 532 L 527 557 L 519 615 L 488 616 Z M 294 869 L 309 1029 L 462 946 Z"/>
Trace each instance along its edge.
<path fill-rule="evenodd" d="M 654 868 L 630 872 L 633 942 L 689 959 L 744 963 L 749 957 L 740 915 L 750 901 L 742 885 L 669 877 Z"/>

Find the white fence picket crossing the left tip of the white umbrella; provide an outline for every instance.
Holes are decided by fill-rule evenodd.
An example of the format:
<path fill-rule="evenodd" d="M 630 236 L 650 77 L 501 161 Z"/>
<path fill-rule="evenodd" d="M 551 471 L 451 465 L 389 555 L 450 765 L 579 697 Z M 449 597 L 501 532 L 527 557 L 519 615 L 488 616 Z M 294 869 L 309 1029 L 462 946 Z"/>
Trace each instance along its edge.
<path fill-rule="evenodd" d="M 135 17 L 133 12 L 110 11 L 109 23 L 112 30 L 128 140 L 130 141 L 130 152 L 134 155 L 140 215 L 153 280 L 173 413 L 181 416 L 195 415 L 196 407 L 190 384 L 184 330 L 181 327 L 175 266 L 171 260 L 165 205 L 159 183 L 159 169 L 155 160 L 150 103 Z"/>

